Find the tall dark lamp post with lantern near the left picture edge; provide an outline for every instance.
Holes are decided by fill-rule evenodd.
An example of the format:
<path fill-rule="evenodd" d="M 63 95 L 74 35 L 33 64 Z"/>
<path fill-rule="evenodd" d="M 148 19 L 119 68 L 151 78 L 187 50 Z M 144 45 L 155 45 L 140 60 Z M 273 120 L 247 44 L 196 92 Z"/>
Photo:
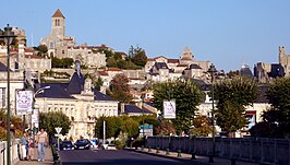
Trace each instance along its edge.
<path fill-rule="evenodd" d="M 11 143 L 11 137 L 10 137 L 10 44 L 12 43 L 13 38 L 16 36 L 12 32 L 12 27 L 7 25 L 4 27 L 4 32 L 0 36 L 1 38 L 4 38 L 4 42 L 7 44 L 7 164 L 11 164 L 10 158 L 10 143 Z"/>

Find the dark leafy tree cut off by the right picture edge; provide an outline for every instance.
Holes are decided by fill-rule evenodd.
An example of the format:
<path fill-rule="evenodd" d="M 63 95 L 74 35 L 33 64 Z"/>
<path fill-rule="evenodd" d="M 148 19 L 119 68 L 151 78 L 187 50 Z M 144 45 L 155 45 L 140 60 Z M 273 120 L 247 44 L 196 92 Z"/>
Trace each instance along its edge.
<path fill-rule="evenodd" d="M 282 130 L 282 137 L 290 133 L 290 78 L 276 79 L 269 84 L 267 98 L 271 107 L 277 110 L 275 120 Z"/>

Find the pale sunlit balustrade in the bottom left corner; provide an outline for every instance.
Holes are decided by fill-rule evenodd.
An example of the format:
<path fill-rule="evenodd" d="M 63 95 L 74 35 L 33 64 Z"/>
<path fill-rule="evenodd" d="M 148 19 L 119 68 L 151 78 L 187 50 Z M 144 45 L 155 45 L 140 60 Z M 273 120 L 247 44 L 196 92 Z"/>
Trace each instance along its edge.
<path fill-rule="evenodd" d="M 0 165 L 7 165 L 7 141 L 0 142 Z M 20 141 L 12 141 L 10 146 L 11 164 L 15 164 L 20 160 Z"/>

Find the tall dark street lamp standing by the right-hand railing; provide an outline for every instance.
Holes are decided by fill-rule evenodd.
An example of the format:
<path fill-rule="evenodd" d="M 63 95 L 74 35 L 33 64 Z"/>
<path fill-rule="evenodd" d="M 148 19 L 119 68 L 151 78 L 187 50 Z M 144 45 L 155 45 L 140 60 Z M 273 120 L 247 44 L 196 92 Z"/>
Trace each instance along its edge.
<path fill-rule="evenodd" d="M 212 63 L 207 72 L 212 76 L 212 125 L 213 125 L 213 154 L 209 156 L 209 163 L 214 163 L 214 156 L 216 152 L 216 143 L 215 143 L 215 99 L 214 99 L 214 81 L 215 81 L 215 73 L 217 72 L 215 66 Z"/>

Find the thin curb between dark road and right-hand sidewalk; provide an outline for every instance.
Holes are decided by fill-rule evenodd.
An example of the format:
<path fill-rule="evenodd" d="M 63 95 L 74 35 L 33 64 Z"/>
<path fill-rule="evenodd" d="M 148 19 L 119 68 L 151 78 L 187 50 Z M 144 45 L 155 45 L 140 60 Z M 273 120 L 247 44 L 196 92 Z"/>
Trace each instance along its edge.
<path fill-rule="evenodd" d="M 173 157 L 173 156 L 168 156 L 168 155 L 162 155 L 162 154 L 156 154 L 153 152 L 144 152 L 144 151 L 140 151 L 140 150 L 134 150 L 134 149 L 123 149 L 126 151 L 131 151 L 131 152 L 137 152 L 137 153 L 142 153 L 142 154 L 147 154 L 147 155 L 152 155 L 152 156 L 158 156 L 158 157 L 162 157 L 162 158 L 170 158 L 170 160 L 174 160 L 174 161 L 180 161 L 180 162 L 184 162 L 186 164 L 194 164 L 194 165 L 210 165 L 209 163 L 204 163 L 204 162 L 200 162 L 196 160 L 188 160 L 188 158 L 182 158 L 182 157 Z"/>

